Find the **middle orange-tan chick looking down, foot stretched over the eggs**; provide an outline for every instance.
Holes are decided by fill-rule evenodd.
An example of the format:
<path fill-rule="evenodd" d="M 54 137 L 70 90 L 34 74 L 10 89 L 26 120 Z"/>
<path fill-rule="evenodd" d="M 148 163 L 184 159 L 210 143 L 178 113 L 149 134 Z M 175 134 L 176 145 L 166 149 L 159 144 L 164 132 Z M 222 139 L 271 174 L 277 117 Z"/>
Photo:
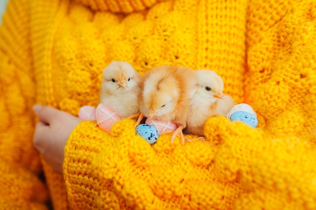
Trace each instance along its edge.
<path fill-rule="evenodd" d="M 171 143 L 178 134 L 184 143 L 182 129 L 186 127 L 195 81 L 196 74 L 180 66 L 157 66 L 143 76 L 138 95 L 141 115 L 176 123 Z"/>

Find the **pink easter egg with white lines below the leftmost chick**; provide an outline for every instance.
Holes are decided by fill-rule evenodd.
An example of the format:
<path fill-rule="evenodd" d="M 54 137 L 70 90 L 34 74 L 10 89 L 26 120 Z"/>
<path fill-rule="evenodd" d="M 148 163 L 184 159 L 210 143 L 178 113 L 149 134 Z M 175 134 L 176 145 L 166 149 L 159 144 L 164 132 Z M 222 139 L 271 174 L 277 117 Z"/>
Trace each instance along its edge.
<path fill-rule="evenodd" d="M 110 132 L 114 123 L 122 119 L 113 109 L 103 103 L 96 107 L 95 113 L 97 125 L 106 132 Z"/>

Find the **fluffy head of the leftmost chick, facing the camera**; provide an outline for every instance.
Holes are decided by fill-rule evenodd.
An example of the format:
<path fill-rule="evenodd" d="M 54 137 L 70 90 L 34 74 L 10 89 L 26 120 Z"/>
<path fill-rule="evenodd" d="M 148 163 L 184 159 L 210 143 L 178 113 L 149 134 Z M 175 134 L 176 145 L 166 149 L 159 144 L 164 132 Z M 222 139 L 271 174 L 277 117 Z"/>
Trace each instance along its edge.
<path fill-rule="evenodd" d="M 112 61 L 103 70 L 101 91 L 120 93 L 129 91 L 139 82 L 138 73 L 133 66 L 124 61 Z"/>

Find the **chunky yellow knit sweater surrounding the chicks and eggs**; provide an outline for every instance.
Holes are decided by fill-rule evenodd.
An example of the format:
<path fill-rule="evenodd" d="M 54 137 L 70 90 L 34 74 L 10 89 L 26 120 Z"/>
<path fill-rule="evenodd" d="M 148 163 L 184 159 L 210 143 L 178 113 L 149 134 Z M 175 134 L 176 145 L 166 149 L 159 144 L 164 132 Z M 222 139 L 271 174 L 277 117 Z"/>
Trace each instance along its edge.
<path fill-rule="evenodd" d="M 316 209 L 315 37 L 313 0 L 12 0 L 0 27 L 0 209 Z M 151 146 L 133 120 L 110 134 L 86 121 L 64 174 L 52 171 L 32 145 L 32 106 L 96 106 L 112 60 L 141 74 L 214 69 L 259 124 L 209 118 L 207 142 L 163 134 Z"/>

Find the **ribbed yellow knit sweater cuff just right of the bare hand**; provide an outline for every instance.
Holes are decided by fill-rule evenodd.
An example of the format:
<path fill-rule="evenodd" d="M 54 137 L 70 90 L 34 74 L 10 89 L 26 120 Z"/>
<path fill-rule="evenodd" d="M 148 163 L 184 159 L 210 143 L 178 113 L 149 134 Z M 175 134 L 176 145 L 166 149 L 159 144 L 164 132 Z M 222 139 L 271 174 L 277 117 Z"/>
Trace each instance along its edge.
<path fill-rule="evenodd" d="M 83 207 L 84 202 L 93 205 L 98 178 L 92 160 L 108 138 L 94 121 L 82 121 L 70 134 L 63 164 L 70 207 Z"/>

